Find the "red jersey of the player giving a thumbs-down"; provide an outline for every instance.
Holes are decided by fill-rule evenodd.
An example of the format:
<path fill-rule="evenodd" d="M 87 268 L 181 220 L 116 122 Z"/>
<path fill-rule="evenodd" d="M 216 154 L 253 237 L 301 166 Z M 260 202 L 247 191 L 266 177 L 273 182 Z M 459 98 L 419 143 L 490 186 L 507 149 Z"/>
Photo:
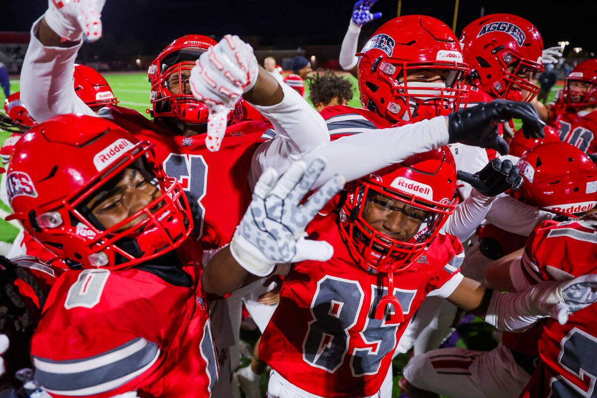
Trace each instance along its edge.
<path fill-rule="evenodd" d="M 156 159 L 166 174 L 177 178 L 190 196 L 189 202 L 200 218 L 195 236 L 204 249 L 229 243 L 251 201 L 248 172 L 262 135 L 273 135 L 264 122 L 245 121 L 230 125 L 220 150 L 205 146 L 205 134 L 174 135 L 161 121 L 149 121 L 136 110 L 110 106 L 113 121 L 139 140 L 155 144 Z"/>

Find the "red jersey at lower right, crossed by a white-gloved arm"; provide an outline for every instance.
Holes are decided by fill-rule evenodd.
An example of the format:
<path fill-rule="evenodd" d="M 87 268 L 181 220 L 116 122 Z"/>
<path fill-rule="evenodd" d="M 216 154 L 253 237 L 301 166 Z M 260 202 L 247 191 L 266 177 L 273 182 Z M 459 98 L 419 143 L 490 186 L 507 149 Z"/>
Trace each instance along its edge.
<path fill-rule="evenodd" d="M 530 280 L 564 280 L 597 272 L 597 221 L 545 221 L 529 236 L 522 267 Z M 597 306 L 571 314 L 566 325 L 546 318 L 541 364 L 521 397 L 595 397 Z"/>

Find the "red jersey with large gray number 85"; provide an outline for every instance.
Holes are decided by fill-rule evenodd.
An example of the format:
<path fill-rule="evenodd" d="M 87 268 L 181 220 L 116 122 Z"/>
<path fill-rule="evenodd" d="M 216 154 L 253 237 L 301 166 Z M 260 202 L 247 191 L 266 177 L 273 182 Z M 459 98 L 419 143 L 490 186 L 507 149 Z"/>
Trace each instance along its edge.
<path fill-rule="evenodd" d="M 387 276 L 370 274 L 355 263 L 340 236 L 337 216 L 316 217 L 307 233 L 330 243 L 334 256 L 326 262 L 293 264 L 261 336 L 259 356 L 309 393 L 371 396 L 380 389 L 392 353 L 426 295 L 459 275 L 462 245 L 457 237 L 438 235 L 417 263 L 394 274 L 404 322 L 391 324 L 374 317 L 387 294 Z"/>

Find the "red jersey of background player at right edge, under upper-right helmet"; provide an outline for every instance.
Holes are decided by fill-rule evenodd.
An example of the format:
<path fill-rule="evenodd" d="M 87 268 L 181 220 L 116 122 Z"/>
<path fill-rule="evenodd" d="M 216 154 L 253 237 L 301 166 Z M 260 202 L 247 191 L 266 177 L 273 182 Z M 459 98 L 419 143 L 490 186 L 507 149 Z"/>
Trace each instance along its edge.
<path fill-rule="evenodd" d="M 586 153 L 597 153 L 597 110 L 580 116 L 576 112 L 553 112 L 550 124 L 558 128 L 560 141 Z"/>

